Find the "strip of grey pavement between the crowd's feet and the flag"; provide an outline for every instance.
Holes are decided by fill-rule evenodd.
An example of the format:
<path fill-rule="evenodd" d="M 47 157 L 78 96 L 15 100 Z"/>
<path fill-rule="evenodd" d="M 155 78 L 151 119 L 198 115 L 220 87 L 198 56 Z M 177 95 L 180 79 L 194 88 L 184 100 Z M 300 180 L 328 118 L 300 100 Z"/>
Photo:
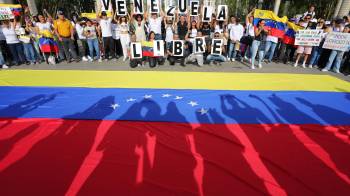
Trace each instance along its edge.
<path fill-rule="evenodd" d="M 113 71 L 176 71 L 176 72 L 239 72 L 239 73 L 292 73 L 292 74 L 314 74 L 314 75 L 331 75 L 339 79 L 350 82 L 350 76 L 345 76 L 343 74 L 329 72 L 321 72 L 316 68 L 302 68 L 293 67 L 292 63 L 283 64 L 283 63 L 263 63 L 263 68 L 261 69 L 250 69 L 250 64 L 248 62 L 225 62 L 221 65 L 204 65 L 199 67 L 197 65 L 188 64 L 185 67 L 182 67 L 179 64 L 175 66 L 169 65 L 167 62 L 164 65 L 158 66 L 156 68 L 150 68 L 149 66 L 131 68 L 129 62 L 123 62 L 122 60 L 111 60 L 104 61 L 101 63 L 98 62 L 79 62 L 79 63 L 70 63 L 67 64 L 62 62 L 57 65 L 47 65 L 45 63 L 38 65 L 21 65 L 13 66 L 12 69 L 34 69 L 34 70 L 113 70 Z"/>

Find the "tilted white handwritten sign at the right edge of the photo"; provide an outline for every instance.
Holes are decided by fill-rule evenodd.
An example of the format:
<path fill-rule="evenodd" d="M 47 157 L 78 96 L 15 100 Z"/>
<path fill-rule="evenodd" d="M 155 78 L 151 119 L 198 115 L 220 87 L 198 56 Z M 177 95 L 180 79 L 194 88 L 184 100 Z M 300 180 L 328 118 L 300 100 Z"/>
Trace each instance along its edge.
<path fill-rule="evenodd" d="M 327 35 L 323 48 L 348 51 L 350 46 L 350 33 L 331 32 Z"/>

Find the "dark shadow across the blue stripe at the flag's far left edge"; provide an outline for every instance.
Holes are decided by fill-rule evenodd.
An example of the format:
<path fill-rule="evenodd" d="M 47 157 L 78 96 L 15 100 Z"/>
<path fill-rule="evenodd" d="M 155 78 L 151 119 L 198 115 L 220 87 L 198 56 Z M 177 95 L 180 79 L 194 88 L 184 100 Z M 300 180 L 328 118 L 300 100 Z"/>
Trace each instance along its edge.
<path fill-rule="evenodd" d="M 50 101 L 53 101 L 56 98 L 57 94 L 52 95 L 36 95 L 34 97 L 31 97 L 29 99 L 26 99 L 24 101 L 12 104 L 7 106 L 4 109 L 0 110 L 0 122 L 6 121 L 6 123 L 1 123 L 0 130 L 8 125 L 11 124 L 11 122 L 14 119 L 17 119 L 24 114 L 31 112 L 38 108 L 41 105 L 44 105 Z"/>

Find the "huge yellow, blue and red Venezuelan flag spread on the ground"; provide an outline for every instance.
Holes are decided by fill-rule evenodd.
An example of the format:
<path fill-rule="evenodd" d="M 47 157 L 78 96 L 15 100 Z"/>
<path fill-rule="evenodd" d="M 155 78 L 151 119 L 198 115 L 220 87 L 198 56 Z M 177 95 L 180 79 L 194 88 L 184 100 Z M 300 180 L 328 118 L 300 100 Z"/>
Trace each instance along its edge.
<path fill-rule="evenodd" d="M 327 75 L 0 72 L 0 195 L 350 195 Z"/>

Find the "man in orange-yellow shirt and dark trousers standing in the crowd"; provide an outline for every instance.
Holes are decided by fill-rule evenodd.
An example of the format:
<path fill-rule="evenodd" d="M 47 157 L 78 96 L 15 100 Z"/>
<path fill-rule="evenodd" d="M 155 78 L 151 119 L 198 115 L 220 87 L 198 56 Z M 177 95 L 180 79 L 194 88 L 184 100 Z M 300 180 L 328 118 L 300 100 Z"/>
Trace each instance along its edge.
<path fill-rule="evenodd" d="M 79 62 L 78 55 L 74 47 L 74 28 L 72 23 L 65 18 L 62 11 L 58 11 L 58 19 L 54 22 L 55 33 L 60 44 L 63 46 L 64 54 L 68 63 L 72 62 L 71 56 Z"/>

